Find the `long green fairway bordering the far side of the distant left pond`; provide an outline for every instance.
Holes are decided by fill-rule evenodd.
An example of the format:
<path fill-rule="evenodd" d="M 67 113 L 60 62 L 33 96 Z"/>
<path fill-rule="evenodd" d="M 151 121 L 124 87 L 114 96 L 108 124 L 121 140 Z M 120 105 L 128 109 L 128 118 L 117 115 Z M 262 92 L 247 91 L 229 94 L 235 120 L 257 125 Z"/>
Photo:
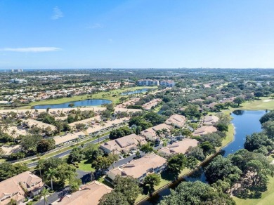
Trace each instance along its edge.
<path fill-rule="evenodd" d="M 110 92 L 99 92 L 92 95 L 92 99 L 105 99 L 105 100 L 111 100 L 113 103 L 119 102 L 119 98 L 122 96 L 117 95 L 115 97 L 112 97 L 112 95 L 123 93 L 124 91 L 136 91 L 138 89 L 142 88 L 157 88 L 157 86 L 136 86 L 133 88 L 122 88 L 113 90 Z M 110 93 L 110 96 L 105 96 L 107 93 Z M 104 95 L 104 96 L 103 96 Z M 53 105 L 53 104 L 61 104 L 65 102 L 72 102 L 72 101 L 79 101 L 79 100 L 86 100 L 88 95 L 75 95 L 72 98 L 60 98 L 60 99 L 54 99 L 54 100 L 43 100 L 43 101 L 37 101 L 37 102 L 31 102 L 30 106 L 24 106 L 24 109 L 30 108 L 34 105 Z M 123 95 L 127 96 L 127 95 Z M 22 107 L 20 107 L 22 109 Z"/>

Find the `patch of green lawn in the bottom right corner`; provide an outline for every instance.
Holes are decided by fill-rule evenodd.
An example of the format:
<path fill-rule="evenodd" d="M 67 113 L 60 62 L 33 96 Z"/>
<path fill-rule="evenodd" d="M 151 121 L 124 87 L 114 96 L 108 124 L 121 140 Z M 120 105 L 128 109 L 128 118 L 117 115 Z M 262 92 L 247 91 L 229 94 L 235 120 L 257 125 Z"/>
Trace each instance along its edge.
<path fill-rule="evenodd" d="M 233 197 L 233 199 L 239 205 L 274 204 L 274 178 L 269 178 L 268 190 L 261 194 L 260 199 L 239 199 L 237 197 Z"/>

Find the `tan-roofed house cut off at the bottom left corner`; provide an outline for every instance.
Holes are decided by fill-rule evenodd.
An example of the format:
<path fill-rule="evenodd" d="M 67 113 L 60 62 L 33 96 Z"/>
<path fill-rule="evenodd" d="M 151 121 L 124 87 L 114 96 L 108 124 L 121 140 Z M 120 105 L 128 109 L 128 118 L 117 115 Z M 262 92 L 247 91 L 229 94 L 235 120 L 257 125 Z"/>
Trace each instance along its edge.
<path fill-rule="evenodd" d="M 25 197 L 36 196 L 44 188 L 42 179 L 25 171 L 0 182 L 0 204 L 8 204 L 14 199 L 18 204 L 24 201 Z"/>

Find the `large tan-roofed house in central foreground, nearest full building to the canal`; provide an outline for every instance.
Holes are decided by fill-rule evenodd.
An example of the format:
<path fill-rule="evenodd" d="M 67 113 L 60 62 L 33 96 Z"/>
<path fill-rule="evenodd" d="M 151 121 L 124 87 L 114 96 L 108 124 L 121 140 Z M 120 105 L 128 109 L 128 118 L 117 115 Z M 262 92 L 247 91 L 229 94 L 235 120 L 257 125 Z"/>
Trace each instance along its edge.
<path fill-rule="evenodd" d="M 151 173 L 160 173 L 166 168 L 167 159 L 160 157 L 157 154 L 147 154 L 140 159 L 135 159 L 121 166 L 109 171 L 107 176 L 114 180 L 117 175 L 119 176 L 132 176 L 138 179 L 140 183 L 143 182 L 145 176 Z"/>

